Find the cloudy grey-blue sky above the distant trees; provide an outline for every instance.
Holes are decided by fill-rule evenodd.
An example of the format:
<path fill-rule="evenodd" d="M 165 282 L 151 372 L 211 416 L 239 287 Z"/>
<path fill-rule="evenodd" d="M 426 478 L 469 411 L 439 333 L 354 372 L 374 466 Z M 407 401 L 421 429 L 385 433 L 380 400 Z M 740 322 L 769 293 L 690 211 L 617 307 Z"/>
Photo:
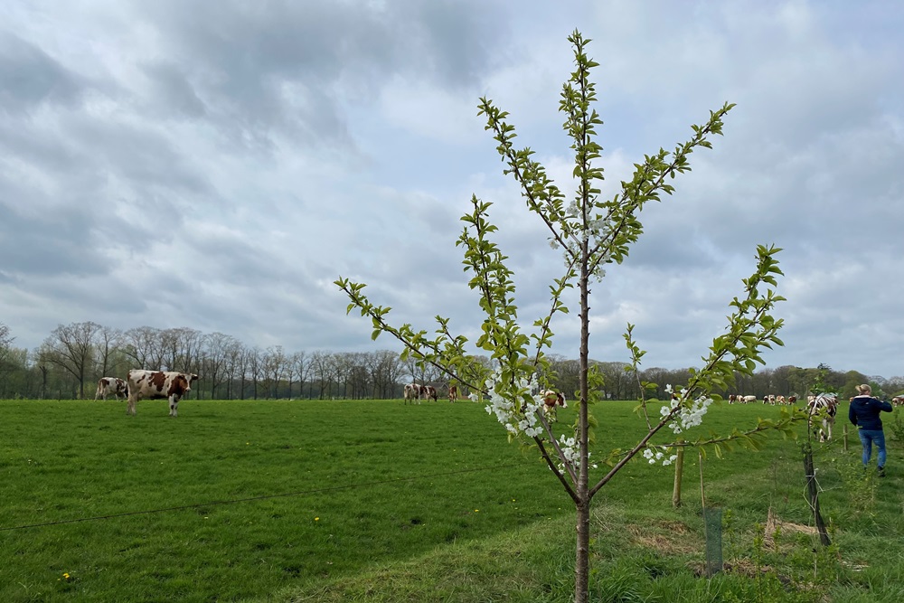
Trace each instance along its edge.
<path fill-rule="evenodd" d="M 563 0 L 7 0 L 0 4 L 0 323 L 189 327 L 286 351 L 471 341 L 456 240 L 493 203 L 527 332 L 563 271 L 477 115 L 509 112 L 564 191 L 568 36 L 589 38 L 612 196 L 633 165 L 736 103 L 590 296 L 589 355 L 700 366 L 775 245 L 783 365 L 904 375 L 904 4 Z M 577 358 L 565 300 L 553 353 Z"/>

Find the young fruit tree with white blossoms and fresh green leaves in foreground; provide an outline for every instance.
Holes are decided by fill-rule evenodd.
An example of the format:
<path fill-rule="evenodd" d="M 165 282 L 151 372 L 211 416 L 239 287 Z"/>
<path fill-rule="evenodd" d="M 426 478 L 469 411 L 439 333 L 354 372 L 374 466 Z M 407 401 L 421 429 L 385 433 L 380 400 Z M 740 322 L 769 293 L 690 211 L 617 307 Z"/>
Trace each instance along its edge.
<path fill-rule="evenodd" d="M 682 387 L 668 388 L 672 399 L 657 404 L 645 393 L 636 408 L 638 419 L 636 444 L 629 449 L 598 452 L 597 438 L 591 428 L 595 425 L 590 413 L 602 388 L 602 375 L 589 364 L 589 296 L 591 283 L 605 276 L 609 264 L 621 264 L 628 256 L 631 244 L 643 232 L 639 219 L 646 203 L 661 201 L 662 193 L 672 194 L 669 184 L 676 174 L 689 171 L 689 158 L 698 147 L 711 147 L 709 138 L 720 135 L 722 118 L 733 105 L 726 104 L 711 112 L 702 126 L 692 126 L 692 137 L 669 153 L 660 149 L 646 155 L 636 164 L 631 180 L 621 183 L 621 190 L 612 198 L 603 198 L 600 182 L 603 168 L 598 166 L 602 147 L 595 141 L 597 127 L 602 124 L 593 108 L 597 94 L 590 71 L 598 63 L 586 53 L 589 40 L 580 33 L 570 35 L 575 69 L 562 88 L 560 112 L 564 114 L 564 129 L 569 134 L 574 151 L 576 193 L 567 202 L 565 194 L 552 183 L 543 166 L 533 158 L 530 148 L 515 148 L 514 127 L 506 120 L 508 113 L 492 101 L 480 99 L 478 115 L 486 119 L 498 143 L 505 174 L 511 174 L 520 184 L 529 212 L 535 213 L 550 233 L 551 247 L 560 250 L 564 269 L 560 278 L 550 286 L 549 311 L 525 328 L 515 306 L 513 271 L 506 267 L 507 256 L 493 242 L 497 230 L 490 221 L 491 203 L 472 195 L 470 212 L 462 217 L 465 228 L 457 240 L 464 250 L 466 272 L 471 274 L 468 286 L 478 293 L 479 305 L 485 314 L 481 334 L 473 347 L 488 353 L 492 366 L 480 363 L 474 352 L 468 352 L 466 337 L 453 334 L 449 319 L 437 316 L 436 336 L 426 330 L 415 330 L 410 324 L 392 326 L 387 322 L 389 307 L 376 306 L 364 295 L 363 283 L 339 278 L 335 284 L 351 299 L 347 312 L 357 309 L 372 320 L 372 338 L 381 333 L 391 334 L 403 344 L 403 358 L 436 367 L 447 376 L 487 401 L 486 410 L 504 426 L 510 440 L 535 447 L 550 467 L 560 485 L 570 496 L 577 515 L 577 546 L 575 557 L 574 600 L 584 603 L 589 597 L 589 539 L 590 502 L 600 488 L 617 475 L 638 455 L 650 463 L 668 465 L 674 453 L 683 447 L 713 449 L 717 455 L 732 443 L 757 448 L 767 430 L 778 429 L 793 435 L 793 413 L 783 411 L 777 420 L 760 419 L 749 429 L 735 429 L 724 436 L 692 439 L 684 433 L 699 425 L 713 397 L 711 392 L 723 390 L 733 382 L 736 373 L 750 374 L 757 363 L 763 363 L 760 353 L 772 344 L 781 345 L 777 331 L 782 320 L 772 316 L 773 307 L 783 297 L 776 295 L 776 276 L 781 274 L 775 259 L 779 251 L 774 246 L 757 248 L 757 265 L 750 278 L 743 279 L 743 295 L 731 300 L 733 308 L 724 332 L 716 336 L 709 353 L 702 358 L 702 368 L 693 370 Z M 552 319 L 569 312 L 565 294 L 575 289 L 580 325 L 579 391 L 577 419 L 573 425 L 563 426 L 544 412 L 544 394 L 552 378 L 545 352 L 551 348 Z M 632 358 L 626 370 L 639 374 L 645 352 L 636 344 L 634 325 L 627 325 L 624 335 Z M 641 391 L 654 391 L 654 383 L 640 382 Z M 718 399 L 718 397 L 716 397 Z M 661 406 L 655 409 L 654 406 Z M 678 439 L 654 437 L 668 429 Z M 598 462 L 591 463 L 591 446 Z M 602 467 L 602 468 L 600 468 Z"/>

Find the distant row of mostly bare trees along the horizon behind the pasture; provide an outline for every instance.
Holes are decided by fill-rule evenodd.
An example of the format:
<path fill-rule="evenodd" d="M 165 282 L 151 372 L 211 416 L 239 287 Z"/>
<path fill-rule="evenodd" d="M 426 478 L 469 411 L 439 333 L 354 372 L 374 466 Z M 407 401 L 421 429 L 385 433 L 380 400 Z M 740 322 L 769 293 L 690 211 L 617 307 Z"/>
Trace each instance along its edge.
<path fill-rule="evenodd" d="M 92 399 L 100 377 L 125 378 L 129 369 L 194 372 L 201 379 L 192 396 L 208 400 L 258 399 L 392 399 L 400 398 L 407 382 L 447 383 L 432 367 L 402 360 L 398 350 L 368 353 L 287 352 L 281 345 L 261 349 L 229 334 L 204 334 L 188 327 L 160 329 L 139 326 L 126 331 L 93 322 L 59 325 L 33 350 L 18 348 L 8 325 L 0 323 L 0 399 Z M 487 368 L 488 358 L 476 358 Z M 550 357 L 551 382 L 566 396 L 579 388 L 579 361 Z M 604 378 L 603 398 L 634 400 L 641 382 L 665 387 L 687 382 L 689 368 L 650 368 L 633 374 L 626 362 L 598 362 Z M 843 398 L 854 386 L 869 382 L 880 397 L 904 391 L 904 377 L 885 379 L 860 372 L 780 366 L 751 376 L 736 375 L 735 388 L 720 392 L 756 395 L 806 395 L 815 383 Z M 445 390 L 441 390 L 445 391 Z"/>

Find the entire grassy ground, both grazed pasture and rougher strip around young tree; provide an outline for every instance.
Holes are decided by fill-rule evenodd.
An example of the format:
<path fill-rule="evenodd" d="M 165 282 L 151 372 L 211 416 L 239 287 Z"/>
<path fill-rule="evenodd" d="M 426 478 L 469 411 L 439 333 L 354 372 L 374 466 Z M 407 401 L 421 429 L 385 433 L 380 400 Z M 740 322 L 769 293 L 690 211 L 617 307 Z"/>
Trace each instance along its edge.
<path fill-rule="evenodd" d="M 594 407 L 598 448 L 636 439 L 633 407 Z M 570 499 L 482 404 L 184 400 L 177 419 L 167 412 L 165 400 L 142 400 L 137 417 L 122 401 L 0 401 L 0 600 L 570 598 Z M 723 405 L 704 427 L 770 416 Z M 762 543 L 770 508 L 813 524 L 798 445 L 773 435 L 758 453 L 703 461 L 734 571 L 697 578 L 696 454 L 677 510 L 671 468 L 639 458 L 595 499 L 595 600 L 900 600 L 902 443 L 889 438 L 888 477 L 862 476 L 855 434 L 842 449 L 846 404 L 839 416 L 816 447 L 830 549 L 793 531 L 778 552 Z"/>

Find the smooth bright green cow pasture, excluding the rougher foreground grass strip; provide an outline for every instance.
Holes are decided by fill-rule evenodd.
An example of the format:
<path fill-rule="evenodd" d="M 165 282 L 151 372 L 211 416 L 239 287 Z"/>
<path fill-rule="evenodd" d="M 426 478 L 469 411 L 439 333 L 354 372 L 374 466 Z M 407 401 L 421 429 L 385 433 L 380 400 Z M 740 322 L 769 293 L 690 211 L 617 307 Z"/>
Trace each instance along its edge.
<path fill-rule="evenodd" d="M 600 449 L 636 441 L 634 406 L 594 407 Z M 724 433 L 777 412 L 723 405 L 708 425 Z M 139 402 L 135 418 L 124 402 L 5 400 L 0 415 L 4 602 L 264 600 L 547 523 L 568 532 L 553 562 L 573 558 L 570 499 L 536 451 L 507 443 L 482 404 L 184 400 L 170 419 L 159 400 Z M 560 410 L 563 427 L 572 418 L 573 409 Z M 890 476 L 872 505 L 881 528 L 876 513 L 852 507 L 831 469 L 856 454 L 841 454 L 840 442 L 821 448 L 830 520 L 901 534 L 902 455 L 890 448 Z M 812 523 L 797 450 L 773 436 L 760 453 L 704 461 L 708 501 L 736 518 L 736 552 L 746 554 L 749 528 L 770 506 Z M 678 513 L 672 471 L 643 459 L 595 505 L 700 528 L 695 454 L 686 471 Z M 868 558 L 874 547 L 855 549 Z"/>

